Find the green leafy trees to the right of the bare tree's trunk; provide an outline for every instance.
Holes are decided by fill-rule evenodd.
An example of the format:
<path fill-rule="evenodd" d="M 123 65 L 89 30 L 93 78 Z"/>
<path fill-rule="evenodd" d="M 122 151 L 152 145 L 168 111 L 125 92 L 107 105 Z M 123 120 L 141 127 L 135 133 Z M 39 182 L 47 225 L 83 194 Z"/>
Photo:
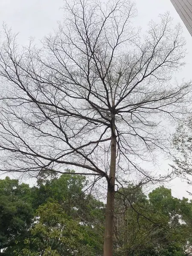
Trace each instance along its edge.
<path fill-rule="evenodd" d="M 192 203 L 171 190 L 154 189 L 148 198 L 140 187 L 120 189 L 116 197 L 117 256 L 184 256 L 192 244 Z"/>

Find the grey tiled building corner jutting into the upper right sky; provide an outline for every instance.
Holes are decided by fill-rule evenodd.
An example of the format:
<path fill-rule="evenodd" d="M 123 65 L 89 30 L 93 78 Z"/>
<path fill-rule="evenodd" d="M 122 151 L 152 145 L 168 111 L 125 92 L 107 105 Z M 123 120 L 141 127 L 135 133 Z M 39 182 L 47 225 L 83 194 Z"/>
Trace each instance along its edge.
<path fill-rule="evenodd" d="M 171 0 L 171 2 L 192 36 L 192 0 Z"/>

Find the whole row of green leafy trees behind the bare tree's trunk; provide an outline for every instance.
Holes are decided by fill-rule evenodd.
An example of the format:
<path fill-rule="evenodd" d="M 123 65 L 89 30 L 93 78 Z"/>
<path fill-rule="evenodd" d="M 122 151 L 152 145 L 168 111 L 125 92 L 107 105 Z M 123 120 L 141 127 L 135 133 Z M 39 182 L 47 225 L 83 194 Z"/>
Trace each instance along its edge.
<path fill-rule="evenodd" d="M 101 256 L 105 204 L 84 192 L 76 174 L 37 185 L 0 180 L 2 256 Z M 192 246 L 192 202 L 160 186 L 145 195 L 130 184 L 115 196 L 114 255 L 186 256 Z"/>

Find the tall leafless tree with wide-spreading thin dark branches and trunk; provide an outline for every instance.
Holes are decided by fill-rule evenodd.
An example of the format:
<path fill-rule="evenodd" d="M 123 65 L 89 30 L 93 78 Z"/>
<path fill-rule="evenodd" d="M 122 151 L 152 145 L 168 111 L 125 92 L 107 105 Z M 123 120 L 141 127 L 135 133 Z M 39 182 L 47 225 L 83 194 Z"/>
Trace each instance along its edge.
<path fill-rule="evenodd" d="M 20 47 L 6 27 L 0 48 L 1 170 L 76 166 L 105 178 L 104 256 L 113 255 L 115 183 L 131 172 L 158 180 L 141 163 L 168 150 L 164 120 L 178 118 L 191 90 L 171 84 L 185 55 L 180 26 L 166 14 L 141 39 L 135 14 L 129 0 L 68 1 L 41 49 Z"/>

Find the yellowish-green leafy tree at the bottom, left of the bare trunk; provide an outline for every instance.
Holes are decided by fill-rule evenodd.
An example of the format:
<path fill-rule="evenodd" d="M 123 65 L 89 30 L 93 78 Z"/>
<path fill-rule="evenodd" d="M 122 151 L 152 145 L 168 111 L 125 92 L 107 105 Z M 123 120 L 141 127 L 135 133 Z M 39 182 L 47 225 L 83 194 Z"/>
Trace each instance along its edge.
<path fill-rule="evenodd" d="M 24 240 L 29 248 L 26 247 L 18 255 L 95 256 L 98 254 L 94 243 L 87 236 L 90 231 L 90 227 L 66 215 L 61 205 L 49 202 L 38 208 L 36 221 L 30 230 L 32 236 Z"/>

